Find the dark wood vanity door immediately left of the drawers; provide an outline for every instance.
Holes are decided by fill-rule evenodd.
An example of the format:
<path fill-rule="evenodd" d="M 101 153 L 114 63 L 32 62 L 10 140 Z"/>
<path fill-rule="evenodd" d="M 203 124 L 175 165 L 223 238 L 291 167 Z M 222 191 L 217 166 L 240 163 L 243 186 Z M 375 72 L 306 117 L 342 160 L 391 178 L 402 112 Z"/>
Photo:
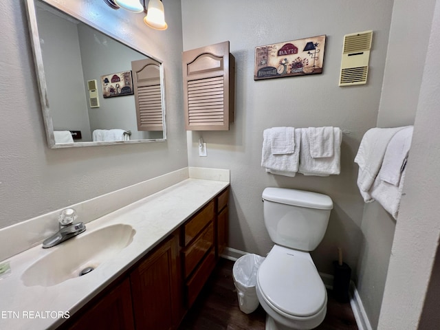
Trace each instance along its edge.
<path fill-rule="evenodd" d="M 174 329 L 179 321 L 178 239 L 161 243 L 131 275 L 136 329 Z"/>

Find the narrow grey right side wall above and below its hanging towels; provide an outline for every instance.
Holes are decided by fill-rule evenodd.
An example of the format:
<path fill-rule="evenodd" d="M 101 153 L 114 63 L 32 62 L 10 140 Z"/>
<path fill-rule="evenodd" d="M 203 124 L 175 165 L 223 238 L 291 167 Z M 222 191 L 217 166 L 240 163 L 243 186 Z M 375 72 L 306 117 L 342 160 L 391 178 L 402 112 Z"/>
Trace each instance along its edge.
<path fill-rule="evenodd" d="M 408 10 L 412 1 L 394 1 L 378 127 L 414 124 L 434 4 L 435 0 L 423 0 Z M 412 63 L 411 69 L 406 69 L 407 63 Z M 380 316 L 395 225 L 378 203 L 365 204 L 357 288 L 373 329 Z"/>

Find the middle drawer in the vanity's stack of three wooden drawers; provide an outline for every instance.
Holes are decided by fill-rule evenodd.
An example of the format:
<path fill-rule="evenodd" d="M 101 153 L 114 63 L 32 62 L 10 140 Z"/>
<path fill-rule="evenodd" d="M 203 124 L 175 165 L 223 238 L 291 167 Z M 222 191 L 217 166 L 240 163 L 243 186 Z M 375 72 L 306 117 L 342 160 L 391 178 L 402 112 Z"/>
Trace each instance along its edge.
<path fill-rule="evenodd" d="M 210 223 L 208 227 L 201 233 L 194 243 L 189 245 L 183 254 L 184 260 L 184 277 L 187 278 L 189 274 L 195 269 L 197 264 L 203 259 L 203 256 L 214 245 L 214 223 Z"/>

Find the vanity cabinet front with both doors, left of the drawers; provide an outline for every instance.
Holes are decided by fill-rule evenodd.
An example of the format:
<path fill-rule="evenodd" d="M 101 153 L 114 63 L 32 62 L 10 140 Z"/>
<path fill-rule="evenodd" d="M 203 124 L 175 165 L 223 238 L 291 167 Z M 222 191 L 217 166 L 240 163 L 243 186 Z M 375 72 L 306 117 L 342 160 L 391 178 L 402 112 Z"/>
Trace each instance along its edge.
<path fill-rule="evenodd" d="M 124 274 L 120 285 L 104 289 L 58 330 L 177 329 L 184 315 L 179 265 L 177 232 Z"/>

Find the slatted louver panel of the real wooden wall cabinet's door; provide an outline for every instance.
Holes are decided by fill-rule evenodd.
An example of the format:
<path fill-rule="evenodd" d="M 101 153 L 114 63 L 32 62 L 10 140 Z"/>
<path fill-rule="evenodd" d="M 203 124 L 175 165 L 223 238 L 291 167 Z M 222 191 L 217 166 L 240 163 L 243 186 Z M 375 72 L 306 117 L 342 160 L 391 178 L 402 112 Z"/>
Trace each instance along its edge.
<path fill-rule="evenodd" d="M 223 125 L 223 76 L 188 81 L 190 125 Z"/>

